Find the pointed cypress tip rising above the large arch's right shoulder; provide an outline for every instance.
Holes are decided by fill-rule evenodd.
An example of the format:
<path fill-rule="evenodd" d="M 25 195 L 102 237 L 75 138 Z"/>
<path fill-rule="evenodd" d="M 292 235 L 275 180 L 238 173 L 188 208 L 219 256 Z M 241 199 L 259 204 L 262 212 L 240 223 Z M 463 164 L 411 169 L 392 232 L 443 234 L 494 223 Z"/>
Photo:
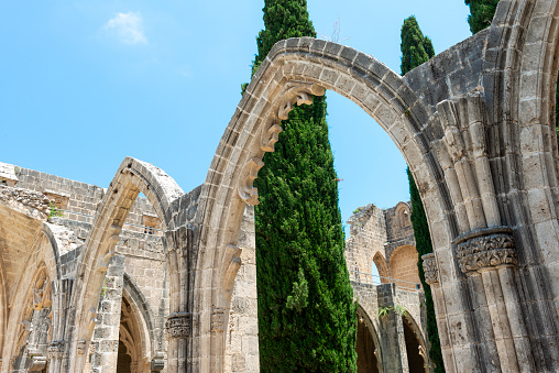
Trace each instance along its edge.
<path fill-rule="evenodd" d="M 435 56 L 435 48 L 432 47 L 431 40 L 428 36 L 424 36 L 414 15 L 404 20 L 401 35 L 402 75 Z"/>

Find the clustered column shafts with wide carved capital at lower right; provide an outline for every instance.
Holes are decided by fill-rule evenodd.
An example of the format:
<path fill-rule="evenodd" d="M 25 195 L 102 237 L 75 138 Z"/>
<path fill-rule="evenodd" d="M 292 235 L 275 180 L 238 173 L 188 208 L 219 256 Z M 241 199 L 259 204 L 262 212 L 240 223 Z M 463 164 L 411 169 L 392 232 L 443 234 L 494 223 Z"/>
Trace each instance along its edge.
<path fill-rule="evenodd" d="M 531 348 L 514 278 L 518 260 L 512 233 L 506 227 L 479 229 L 457 238 L 453 244 L 478 306 L 476 337 L 485 344 L 485 364 L 506 372 L 533 372 Z"/>

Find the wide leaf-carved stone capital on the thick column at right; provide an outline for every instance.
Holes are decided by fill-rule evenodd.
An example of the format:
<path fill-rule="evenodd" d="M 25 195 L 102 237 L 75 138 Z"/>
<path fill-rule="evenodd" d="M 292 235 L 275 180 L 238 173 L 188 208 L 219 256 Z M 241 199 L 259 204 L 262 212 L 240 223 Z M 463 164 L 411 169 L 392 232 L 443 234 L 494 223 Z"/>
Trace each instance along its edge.
<path fill-rule="evenodd" d="M 453 243 L 458 264 L 465 274 L 518 264 L 512 230 L 507 227 L 479 229 L 457 238 Z"/>

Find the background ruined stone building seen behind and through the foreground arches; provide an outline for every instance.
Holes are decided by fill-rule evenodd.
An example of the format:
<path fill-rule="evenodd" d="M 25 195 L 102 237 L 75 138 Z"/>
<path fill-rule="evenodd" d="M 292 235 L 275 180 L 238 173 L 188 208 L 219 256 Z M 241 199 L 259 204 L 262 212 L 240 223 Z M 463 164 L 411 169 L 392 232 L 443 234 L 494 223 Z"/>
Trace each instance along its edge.
<path fill-rule="evenodd" d="M 52 371 L 61 343 L 53 317 L 55 307 L 64 307 L 53 290 L 69 292 L 69 287 L 59 286 L 74 281 L 107 189 L 4 163 L 0 163 L 0 243 L 9 284 L 4 297 L 10 305 L 4 336 L 17 336 L 4 341 L 2 370 Z M 174 338 L 175 329 L 167 321 L 172 278 L 165 237 L 147 199 L 140 197 L 131 206 L 122 229 L 111 231 L 114 249 L 99 267 L 106 276 L 98 289 L 99 303 L 89 310 L 91 342 L 78 345 L 84 372 L 167 371 L 166 340 Z M 369 205 L 359 209 L 350 223 L 347 257 L 360 301 L 359 371 L 407 371 L 410 366 L 410 372 L 426 372 L 423 294 L 416 288 L 417 252 L 409 257 L 407 252 L 408 248 L 415 251 L 408 205 L 402 202 L 387 211 Z M 256 372 L 252 208 L 245 211 L 242 231 L 243 246 L 252 249 L 245 251 L 235 276 L 226 370 Z M 371 274 L 373 260 L 382 278 Z M 54 267 L 53 261 L 57 263 Z M 381 282 L 385 285 L 375 286 Z M 379 316 L 379 307 L 392 310 L 394 305 L 406 312 Z"/>

